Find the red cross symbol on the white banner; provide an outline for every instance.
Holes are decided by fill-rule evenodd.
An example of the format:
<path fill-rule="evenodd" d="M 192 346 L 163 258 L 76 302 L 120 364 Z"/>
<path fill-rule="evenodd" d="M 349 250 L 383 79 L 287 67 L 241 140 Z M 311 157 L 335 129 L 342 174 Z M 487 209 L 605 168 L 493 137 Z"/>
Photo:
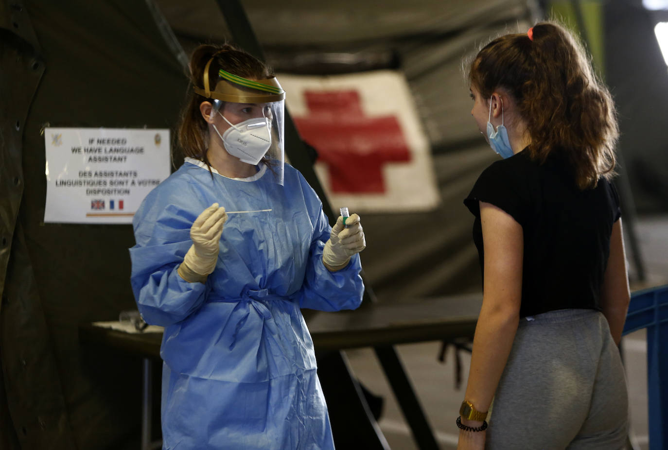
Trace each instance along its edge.
<path fill-rule="evenodd" d="M 357 91 L 304 95 L 310 114 L 296 117 L 295 126 L 327 164 L 332 191 L 385 192 L 383 165 L 411 159 L 397 118 L 365 116 Z"/>

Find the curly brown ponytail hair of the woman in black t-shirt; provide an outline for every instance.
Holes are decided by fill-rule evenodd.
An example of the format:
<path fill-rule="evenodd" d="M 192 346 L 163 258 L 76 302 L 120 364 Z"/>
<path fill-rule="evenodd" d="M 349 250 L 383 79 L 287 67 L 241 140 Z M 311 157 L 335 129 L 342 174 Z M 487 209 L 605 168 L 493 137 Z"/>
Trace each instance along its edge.
<path fill-rule="evenodd" d="M 562 25 L 540 22 L 482 48 L 471 63 L 470 83 L 483 98 L 498 88 L 515 99 L 531 137 L 529 157 L 545 162 L 559 153 L 574 170 L 578 188 L 611 179 L 619 136 L 613 99 L 582 46 Z"/>

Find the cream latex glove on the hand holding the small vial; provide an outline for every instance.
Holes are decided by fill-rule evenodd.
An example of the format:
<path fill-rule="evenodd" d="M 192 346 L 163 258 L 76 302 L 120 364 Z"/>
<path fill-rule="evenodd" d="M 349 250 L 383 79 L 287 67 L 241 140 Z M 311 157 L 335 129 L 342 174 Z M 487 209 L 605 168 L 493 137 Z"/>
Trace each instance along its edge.
<path fill-rule="evenodd" d="M 348 264 L 351 256 L 361 252 L 366 246 L 359 216 L 353 214 L 346 218 L 345 226 L 343 218 L 339 216 L 329 234 L 329 240 L 325 243 L 323 263 L 329 270 L 340 270 Z"/>

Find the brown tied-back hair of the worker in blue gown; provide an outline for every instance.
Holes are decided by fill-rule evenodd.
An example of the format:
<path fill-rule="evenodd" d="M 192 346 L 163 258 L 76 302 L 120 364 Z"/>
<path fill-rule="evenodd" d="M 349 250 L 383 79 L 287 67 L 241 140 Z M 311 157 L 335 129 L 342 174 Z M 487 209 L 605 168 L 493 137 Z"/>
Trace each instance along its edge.
<path fill-rule="evenodd" d="M 204 89 L 204 67 L 209 59 L 210 89 L 216 86 L 218 70 L 223 69 L 234 75 L 250 79 L 266 79 L 274 76 L 273 71 L 249 53 L 228 43 L 224 45 L 203 44 L 194 49 L 190 57 L 190 86 L 186 105 L 181 111 L 178 125 L 178 142 L 186 156 L 202 160 L 209 166 L 206 158 L 208 149 L 208 124 L 200 113 L 202 101 L 212 101 L 192 90 L 196 85 Z"/>

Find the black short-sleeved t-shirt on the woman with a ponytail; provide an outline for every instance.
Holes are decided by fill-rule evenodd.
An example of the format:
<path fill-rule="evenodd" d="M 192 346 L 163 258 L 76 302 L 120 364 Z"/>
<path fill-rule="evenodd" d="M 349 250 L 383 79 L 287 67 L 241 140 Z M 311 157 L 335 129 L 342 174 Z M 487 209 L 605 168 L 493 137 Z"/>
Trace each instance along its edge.
<path fill-rule="evenodd" d="M 527 152 L 494 162 L 464 204 L 476 216 L 473 239 L 484 272 L 479 201 L 512 216 L 524 232 L 520 317 L 564 308 L 600 310 L 619 196 L 604 178 L 581 191 L 564 162 L 533 162 Z"/>

